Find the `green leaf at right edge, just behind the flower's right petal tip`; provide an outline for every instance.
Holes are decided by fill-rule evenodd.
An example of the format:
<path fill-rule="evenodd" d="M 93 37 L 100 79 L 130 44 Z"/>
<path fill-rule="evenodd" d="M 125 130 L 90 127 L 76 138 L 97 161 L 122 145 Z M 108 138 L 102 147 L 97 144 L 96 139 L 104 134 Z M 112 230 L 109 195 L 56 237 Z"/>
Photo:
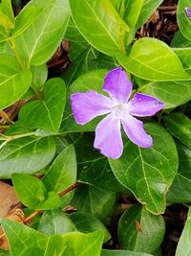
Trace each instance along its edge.
<path fill-rule="evenodd" d="M 158 98 L 164 108 L 173 108 L 191 100 L 190 81 L 147 81 L 140 92 Z"/>

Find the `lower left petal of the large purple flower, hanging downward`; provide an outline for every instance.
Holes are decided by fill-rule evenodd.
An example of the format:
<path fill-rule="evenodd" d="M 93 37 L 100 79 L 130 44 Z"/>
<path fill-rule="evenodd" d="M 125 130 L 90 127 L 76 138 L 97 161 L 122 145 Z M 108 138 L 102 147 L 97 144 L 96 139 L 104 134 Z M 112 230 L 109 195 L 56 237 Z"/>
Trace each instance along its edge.
<path fill-rule="evenodd" d="M 117 159 L 123 151 L 120 120 L 113 113 L 107 115 L 96 127 L 94 147 L 108 157 Z"/>

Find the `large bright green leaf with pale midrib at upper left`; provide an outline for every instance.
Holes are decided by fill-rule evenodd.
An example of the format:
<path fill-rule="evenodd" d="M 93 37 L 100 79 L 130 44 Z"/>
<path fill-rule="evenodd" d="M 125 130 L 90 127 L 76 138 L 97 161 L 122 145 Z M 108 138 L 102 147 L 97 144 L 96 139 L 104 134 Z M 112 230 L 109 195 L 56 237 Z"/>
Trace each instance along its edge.
<path fill-rule="evenodd" d="M 69 6 L 68 0 L 33 0 L 26 10 L 32 6 L 43 10 L 24 33 L 16 36 L 15 44 L 28 63 L 41 65 L 53 56 L 63 38 L 69 21 Z"/>

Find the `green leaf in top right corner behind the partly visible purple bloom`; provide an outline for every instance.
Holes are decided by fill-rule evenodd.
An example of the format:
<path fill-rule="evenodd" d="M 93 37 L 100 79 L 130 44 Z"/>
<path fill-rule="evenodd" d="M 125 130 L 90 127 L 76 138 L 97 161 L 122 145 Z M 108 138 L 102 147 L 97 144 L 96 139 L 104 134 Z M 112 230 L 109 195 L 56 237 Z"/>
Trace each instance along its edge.
<path fill-rule="evenodd" d="M 188 40 L 191 40 L 191 20 L 186 16 L 184 8 L 190 8 L 190 0 L 179 0 L 177 7 L 177 21 L 180 32 Z"/>

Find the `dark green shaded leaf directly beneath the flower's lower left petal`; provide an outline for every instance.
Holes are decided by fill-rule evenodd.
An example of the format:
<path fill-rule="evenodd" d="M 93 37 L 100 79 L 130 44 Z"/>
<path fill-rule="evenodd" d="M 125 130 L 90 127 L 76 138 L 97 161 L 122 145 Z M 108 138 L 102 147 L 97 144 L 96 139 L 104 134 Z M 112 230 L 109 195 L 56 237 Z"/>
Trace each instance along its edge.
<path fill-rule="evenodd" d="M 94 136 L 91 135 L 86 133 L 74 143 L 79 174 L 77 179 L 106 192 L 123 191 L 125 188 L 117 181 L 107 157 L 94 149 Z"/>

